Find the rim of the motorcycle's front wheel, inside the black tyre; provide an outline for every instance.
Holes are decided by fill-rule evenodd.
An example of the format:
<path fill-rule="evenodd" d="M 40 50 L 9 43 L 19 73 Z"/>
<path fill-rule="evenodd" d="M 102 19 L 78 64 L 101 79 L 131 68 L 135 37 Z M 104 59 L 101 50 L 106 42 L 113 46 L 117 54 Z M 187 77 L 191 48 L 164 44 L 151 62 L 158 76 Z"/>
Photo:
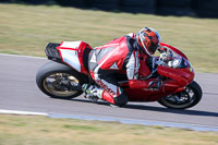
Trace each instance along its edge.
<path fill-rule="evenodd" d="M 194 90 L 191 87 L 186 86 L 184 90 L 168 95 L 162 98 L 162 102 L 171 108 L 186 108 L 189 106 L 192 106 L 195 99 L 196 95 Z"/>

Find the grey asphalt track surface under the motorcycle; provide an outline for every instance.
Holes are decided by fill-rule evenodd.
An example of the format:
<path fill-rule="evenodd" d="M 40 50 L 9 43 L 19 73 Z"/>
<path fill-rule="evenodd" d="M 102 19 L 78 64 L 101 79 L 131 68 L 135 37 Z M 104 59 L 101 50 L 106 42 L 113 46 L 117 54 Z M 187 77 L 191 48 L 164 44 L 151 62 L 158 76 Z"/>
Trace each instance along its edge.
<path fill-rule="evenodd" d="M 187 110 L 168 109 L 158 102 L 129 102 L 113 108 L 93 104 L 83 95 L 72 100 L 52 99 L 36 86 L 37 69 L 46 59 L 0 55 L 0 109 L 185 123 L 218 130 L 218 74 L 196 73 L 203 88 L 202 101 Z"/>

